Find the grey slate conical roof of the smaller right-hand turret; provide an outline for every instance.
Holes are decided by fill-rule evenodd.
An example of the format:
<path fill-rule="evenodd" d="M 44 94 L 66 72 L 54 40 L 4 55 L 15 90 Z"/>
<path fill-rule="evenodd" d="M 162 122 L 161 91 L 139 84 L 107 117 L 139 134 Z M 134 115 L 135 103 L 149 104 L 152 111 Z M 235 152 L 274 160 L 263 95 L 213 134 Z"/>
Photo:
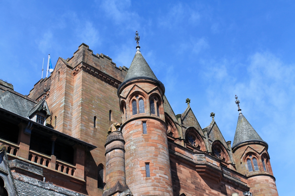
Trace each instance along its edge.
<path fill-rule="evenodd" d="M 255 131 L 255 129 L 253 129 L 248 120 L 244 117 L 244 115 L 240 113 L 237 122 L 235 138 L 234 142 L 232 143 L 232 146 L 247 140 L 263 141 L 261 137 L 258 135 L 258 133 Z"/>

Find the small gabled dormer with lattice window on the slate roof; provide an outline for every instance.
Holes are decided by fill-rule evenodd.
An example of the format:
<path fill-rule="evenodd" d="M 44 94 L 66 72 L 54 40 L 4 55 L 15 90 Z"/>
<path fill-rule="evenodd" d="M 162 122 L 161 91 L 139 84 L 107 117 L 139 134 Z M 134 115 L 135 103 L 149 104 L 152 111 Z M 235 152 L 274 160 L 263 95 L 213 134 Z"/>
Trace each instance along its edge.
<path fill-rule="evenodd" d="M 31 109 L 28 117 L 32 121 L 35 121 L 39 124 L 43 124 L 44 126 L 46 126 L 46 119 L 50 115 L 51 114 L 50 114 L 47 102 L 45 98 L 43 98 L 33 109 Z"/>

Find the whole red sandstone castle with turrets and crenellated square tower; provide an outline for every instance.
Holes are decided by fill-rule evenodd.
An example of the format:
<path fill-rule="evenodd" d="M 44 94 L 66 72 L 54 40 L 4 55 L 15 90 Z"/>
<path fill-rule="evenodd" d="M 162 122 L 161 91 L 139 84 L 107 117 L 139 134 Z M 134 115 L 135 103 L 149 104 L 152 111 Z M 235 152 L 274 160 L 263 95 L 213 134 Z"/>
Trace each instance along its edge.
<path fill-rule="evenodd" d="M 0 195 L 278 196 L 240 107 L 233 143 L 175 114 L 135 39 L 129 69 L 81 44 L 28 95 L 0 80 Z"/>

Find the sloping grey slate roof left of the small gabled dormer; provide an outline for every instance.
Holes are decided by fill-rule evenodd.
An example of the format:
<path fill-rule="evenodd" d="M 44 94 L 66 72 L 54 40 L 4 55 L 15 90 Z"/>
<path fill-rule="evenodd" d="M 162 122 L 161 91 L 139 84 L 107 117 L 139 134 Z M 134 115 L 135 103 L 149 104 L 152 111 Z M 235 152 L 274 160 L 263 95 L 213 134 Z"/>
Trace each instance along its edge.
<path fill-rule="evenodd" d="M 0 90 L 1 91 L 1 90 Z M 22 117 L 28 117 L 36 103 L 10 91 L 0 92 L 0 107 Z"/>

